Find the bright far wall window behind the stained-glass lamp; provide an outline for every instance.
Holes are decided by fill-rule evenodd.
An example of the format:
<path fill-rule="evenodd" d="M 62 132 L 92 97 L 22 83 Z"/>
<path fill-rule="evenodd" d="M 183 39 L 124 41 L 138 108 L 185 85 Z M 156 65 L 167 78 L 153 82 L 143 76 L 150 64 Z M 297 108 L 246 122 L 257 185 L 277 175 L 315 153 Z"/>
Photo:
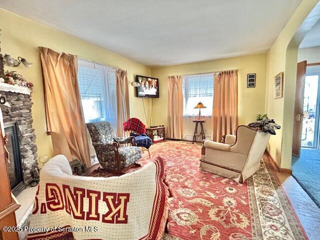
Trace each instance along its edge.
<path fill-rule="evenodd" d="M 206 108 L 201 109 L 201 116 L 212 115 L 213 104 L 213 73 L 182 76 L 183 116 L 199 114 L 194 109 L 201 101 Z"/>

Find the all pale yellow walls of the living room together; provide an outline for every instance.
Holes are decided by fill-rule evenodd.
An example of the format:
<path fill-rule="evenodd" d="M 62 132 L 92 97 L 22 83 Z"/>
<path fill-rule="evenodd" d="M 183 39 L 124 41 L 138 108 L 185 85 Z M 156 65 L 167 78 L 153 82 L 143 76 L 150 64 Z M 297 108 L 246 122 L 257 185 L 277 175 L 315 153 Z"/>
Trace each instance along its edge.
<path fill-rule="evenodd" d="M 221 70 L 239 69 L 238 110 L 239 124 L 255 119 L 255 114 L 266 112 L 282 128 L 271 136 L 269 152 L 284 168 L 291 165 L 291 145 L 293 128 L 293 102 L 297 47 L 289 45 L 294 33 L 318 0 L 302 0 L 285 25 L 267 54 L 256 54 L 182 65 L 149 68 L 90 43 L 54 30 L 32 20 L 23 18 L 0 8 L 2 53 L 23 56 L 33 62 L 28 69 L 14 68 L 27 80 L 34 83 L 32 100 L 33 126 L 37 136 L 38 153 L 52 155 L 51 139 L 45 132 L 45 114 L 42 90 L 42 76 L 37 46 L 50 47 L 59 52 L 79 55 L 82 58 L 112 65 L 128 72 L 129 82 L 135 74 L 152 75 L 159 78 L 160 97 L 153 99 L 152 124 L 167 122 L 167 81 L 168 75 L 194 74 Z M 294 64 L 295 66 L 294 66 Z M 273 99 L 273 77 L 284 71 L 284 97 Z M 246 74 L 256 73 L 256 87 L 246 88 Z M 134 97 L 130 89 L 131 116 L 146 122 L 141 98 Z M 146 114 L 150 114 L 150 99 L 144 99 Z"/>

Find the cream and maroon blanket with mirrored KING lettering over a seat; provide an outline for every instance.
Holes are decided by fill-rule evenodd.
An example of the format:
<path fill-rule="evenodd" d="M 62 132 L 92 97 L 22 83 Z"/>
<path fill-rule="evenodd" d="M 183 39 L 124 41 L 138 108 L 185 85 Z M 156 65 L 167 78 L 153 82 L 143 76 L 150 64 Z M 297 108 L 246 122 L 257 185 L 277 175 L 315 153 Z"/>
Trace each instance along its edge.
<path fill-rule="evenodd" d="M 28 239 L 161 239 L 167 218 L 163 160 L 121 176 L 72 175 L 65 156 L 41 169 Z"/>

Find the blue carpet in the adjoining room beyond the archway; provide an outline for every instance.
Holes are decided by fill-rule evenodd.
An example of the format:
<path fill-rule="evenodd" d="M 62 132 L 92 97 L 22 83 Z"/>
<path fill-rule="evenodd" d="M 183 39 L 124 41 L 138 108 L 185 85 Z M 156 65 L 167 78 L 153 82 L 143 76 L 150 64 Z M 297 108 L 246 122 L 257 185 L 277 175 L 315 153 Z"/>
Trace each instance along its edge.
<path fill-rule="evenodd" d="M 301 148 L 300 157 L 292 157 L 292 176 L 320 207 L 320 149 Z"/>

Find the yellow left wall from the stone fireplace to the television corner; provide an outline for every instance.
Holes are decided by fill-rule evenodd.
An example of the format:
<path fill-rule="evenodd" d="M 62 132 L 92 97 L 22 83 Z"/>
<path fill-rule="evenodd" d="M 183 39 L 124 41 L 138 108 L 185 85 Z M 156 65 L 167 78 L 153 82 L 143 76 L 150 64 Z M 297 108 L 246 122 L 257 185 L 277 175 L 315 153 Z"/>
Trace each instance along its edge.
<path fill-rule="evenodd" d="M 79 57 L 100 62 L 127 70 L 128 81 L 133 81 L 135 74 L 150 75 L 150 68 L 119 56 L 110 51 L 62 33 L 35 21 L 26 19 L 12 12 L 0 8 L 1 19 L 1 53 L 8 53 L 14 57 L 22 56 L 32 62 L 31 68 L 22 66 L 11 68 L 32 81 L 34 89 L 32 93 L 33 127 L 35 128 L 38 155 L 48 154 L 52 156 L 52 143 L 50 136 L 46 135 L 42 75 L 37 46 L 52 48 L 58 52 L 66 52 Z M 5 70 L 8 69 L 7 67 Z M 141 98 L 134 96 L 134 88 L 129 85 L 130 114 L 145 121 Z M 145 99 L 147 114 L 150 109 L 150 99 Z"/>

